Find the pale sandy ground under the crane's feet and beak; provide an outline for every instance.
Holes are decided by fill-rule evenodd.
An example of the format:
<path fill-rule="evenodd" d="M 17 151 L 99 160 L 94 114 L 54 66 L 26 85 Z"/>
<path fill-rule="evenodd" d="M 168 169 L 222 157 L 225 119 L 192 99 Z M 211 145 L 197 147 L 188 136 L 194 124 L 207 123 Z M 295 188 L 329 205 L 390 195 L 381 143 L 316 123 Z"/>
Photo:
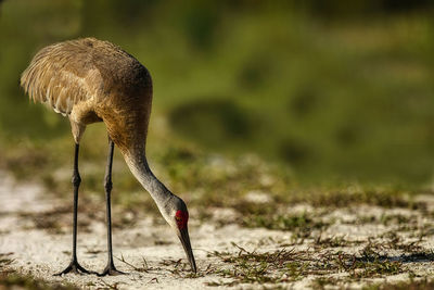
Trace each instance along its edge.
<path fill-rule="evenodd" d="M 291 240 L 290 231 L 247 229 L 238 225 L 217 226 L 214 224 L 200 225 L 191 223 L 190 235 L 194 249 L 196 263 L 200 268 L 199 277 L 189 277 L 189 266 L 184 260 L 183 250 L 166 225 L 155 225 L 152 219 L 144 219 L 133 227 L 114 230 L 114 255 L 117 268 L 128 275 L 115 277 L 97 277 L 66 275 L 54 277 L 53 274 L 63 269 L 69 262 L 72 237 L 66 232 L 50 232 L 38 229 L 35 223 L 25 216 L 52 211 L 62 205 L 61 200 L 43 194 L 43 188 L 31 184 L 22 185 L 15 182 L 10 176 L 0 173 L 0 254 L 8 255 L 13 262 L 9 267 L 23 274 L 31 274 L 35 277 L 48 281 L 71 282 L 86 288 L 117 288 L 117 289 L 203 289 L 208 288 L 213 281 L 230 282 L 232 278 L 224 278 L 215 272 L 208 270 L 214 266 L 229 267 L 217 257 L 207 256 L 213 251 L 238 252 L 233 242 L 245 249 L 256 251 L 276 251 Z M 433 203 L 434 204 L 434 203 Z M 103 204 L 101 206 L 104 206 Z M 299 209 L 298 209 L 299 207 Z M 295 206 L 292 211 L 312 211 L 309 206 Z M 383 224 L 354 223 L 360 216 L 384 216 L 384 214 L 399 214 L 411 216 L 412 223 L 426 231 L 433 231 L 433 219 L 418 215 L 410 210 L 384 210 L 372 206 L 359 206 L 357 209 L 336 210 L 330 212 L 324 218 L 337 220 L 333 223 L 321 238 L 345 237 L 348 241 L 358 241 L 349 248 L 335 248 L 334 251 L 345 250 L 346 253 L 357 253 L 370 237 L 375 237 L 391 230 Z M 225 214 L 225 213 L 221 213 Z M 230 211 L 227 213 L 230 217 Z M 78 216 L 80 219 L 80 215 Z M 431 228 L 430 228 L 431 227 Z M 91 222 L 88 227 L 91 230 L 78 229 L 78 260 L 88 269 L 101 272 L 106 263 L 106 236 L 105 227 L 100 222 Z M 430 235 L 433 235 L 431 232 Z M 423 249 L 433 249 L 432 236 L 426 236 L 418 244 Z M 408 234 L 403 242 L 417 240 L 414 235 Z M 297 244 L 291 244 L 294 251 L 305 251 L 311 248 L 312 241 L 307 239 Z M 312 254 L 320 254 L 312 251 Z M 403 252 L 391 250 L 387 255 L 391 260 L 403 260 Z M 124 257 L 124 263 L 117 259 Z M 117 257 L 117 259 L 116 259 Z M 182 259 L 181 262 L 179 260 Z M 145 261 L 145 262 L 143 262 Z M 417 277 L 430 277 L 434 274 L 434 262 L 422 259 L 404 261 L 406 269 Z M 136 267 L 136 268 L 133 268 Z M 331 276 L 345 275 L 335 273 Z M 394 282 L 407 280 L 408 273 L 393 276 L 362 280 L 361 282 L 348 282 L 346 287 L 359 288 L 371 282 Z M 291 289 L 305 289 L 311 286 L 314 275 L 307 275 L 296 281 L 290 281 L 284 287 Z M 275 285 L 276 286 L 276 285 Z M 341 285 L 342 286 L 342 285 Z M 258 288 L 261 285 L 251 283 L 235 285 L 238 288 Z M 213 289 L 224 287 L 209 287 Z"/>

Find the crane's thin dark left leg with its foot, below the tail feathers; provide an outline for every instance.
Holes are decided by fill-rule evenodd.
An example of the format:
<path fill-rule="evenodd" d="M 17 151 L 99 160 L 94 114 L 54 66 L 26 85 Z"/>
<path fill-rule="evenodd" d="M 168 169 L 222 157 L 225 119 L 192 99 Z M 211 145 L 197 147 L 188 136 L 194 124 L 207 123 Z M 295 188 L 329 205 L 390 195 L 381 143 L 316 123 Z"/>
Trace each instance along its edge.
<path fill-rule="evenodd" d="M 73 222 L 73 257 L 69 265 L 61 273 L 55 274 L 55 276 L 61 276 L 69 272 L 76 274 L 97 274 L 85 269 L 78 264 L 77 261 L 77 211 L 78 211 L 78 188 L 81 182 L 80 174 L 78 173 L 78 149 L 79 144 L 75 144 L 75 155 L 74 155 L 74 174 L 73 174 L 73 186 L 74 186 L 74 222 Z"/>

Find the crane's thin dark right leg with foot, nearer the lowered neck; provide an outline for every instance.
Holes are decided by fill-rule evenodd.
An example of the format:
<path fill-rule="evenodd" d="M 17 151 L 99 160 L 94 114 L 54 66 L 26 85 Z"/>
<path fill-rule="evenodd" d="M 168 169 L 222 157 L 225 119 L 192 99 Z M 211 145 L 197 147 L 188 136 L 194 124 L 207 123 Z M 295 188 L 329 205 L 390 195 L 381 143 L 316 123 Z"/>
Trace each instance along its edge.
<path fill-rule="evenodd" d="M 107 223 L 107 254 L 108 261 L 104 270 L 99 274 L 99 276 L 105 275 L 122 275 L 125 274 L 120 270 L 117 270 L 115 264 L 113 263 L 113 251 L 112 251 L 112 209 L 111 209 L 111 193 L 112 193 L 112 164 L 113 164 L 113 149 L 114 143 L 112 139 L 108 137 L 108 156 L 107 156 L 107 166 L 105 169 L 105 179 L 104 179 L 104 188 L 105 188 L 105 200 L 106 200 L 106 223 Z"/>

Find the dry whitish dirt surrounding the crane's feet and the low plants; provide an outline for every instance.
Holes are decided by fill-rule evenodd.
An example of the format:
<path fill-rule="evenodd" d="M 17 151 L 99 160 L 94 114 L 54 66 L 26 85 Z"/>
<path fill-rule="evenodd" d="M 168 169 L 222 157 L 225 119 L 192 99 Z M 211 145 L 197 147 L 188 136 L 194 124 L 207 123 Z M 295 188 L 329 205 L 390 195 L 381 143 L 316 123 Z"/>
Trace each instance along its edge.
<path fill-rule="evenodd" d="M 184 264 L 183 250 L 168 226 L 155 225 L 152 218 L 143 219 L 131 227 L 114 230 L 115 264 L 118 269 L 128 273 L 127 275 L 102 278 L 79 275 L 54 277 L 53 274 L 63 269 L 69 262 L 71 226 L 67 226 L 66 230 L 61 228 L 60 231 L 47 230 L 43 226 L 38 227 L 35 216 L 52 213 L 55 220 L 55 210 L 64 206 L 62 200 L 43 194 L 43 191 L 41 186 L 17 184 L 9 175 L 0 173 L 0 200 L 3 204 L 0 207 L 0 254 L 13 260 L 8 267 L 49 282 L 67 281 L 78 287 L 112 289 L 215 289 L 228 286 L 263 289 L 264 285 L 260 283 L 233 283 L 237 279 L 228 275 L 224 277 L 221 269 L 231 269 L 232 265 L 225 263 L 216 255 L 209 256 L 209 253 L 227 251 L 237 256 L 240 253 L 238 247 L 241 247 L 258 253 L 281 249 L 293 251 L 294 254 L 310 251 L 314 259 L 331 253 L 330 256 L 337 259 L 340 253 L 360 255 L 360 251 L 366 249 L 367 244 L 375 242 L 382 244 L 382 249 L 375 249 L 385 256 L 385 260 L 400 264 L 399 273 L 345 279 L 350 275 L 350 270 L 345 270 L 345 262 L 343 262 L 344 268 L 339 270 L 303 272 L 305 274 L 299 277 L 293 277 L 293 275 L 286 280 L 282 279 L 279 282 L 265 283 L 265 286 L 279 285 L 290 289 L 306 289 L 315 287 L 316 280 L 322 277 L 335 279 L 340 287 L 360 288 L 375 282 L 408 280 L 410 275 L 416 278 L 432 277 L 434 273 L 432 255 L 420 255 L 420 252 L 426 253 L 434 247 L 432 215 L 430 217 L 412 210 L 385 210 L 361 205 L 333 210 L 323 214 L 321 217 L 323 220 L 333 220 L 327 229 L 306 239 L 295 238 L 295 241 L 291 231 L 242 228 L 235 224 L 226 226 L 219 226 L 218 223 L 199 224 L 192 220 L 190 235 L 200 269 L 197 277 L 190 277 L 189 267 Z M 434 204 L 432 199 L 431 202 L 429 198 L 426 200 L 429 205 Z M 104 205 L 101 204 L 101 206 L 103 209 Z M 297 205 L 290 207 L 289 211 L 309 213 L 315 212 L 315 209 Z M 430 211 L 430 209 L 426 210 L 426 212 Z M 231 218 L 232 214 L 230 211 L 222 211 L 220 216 L 222 215 Z M 375 218 L 386 219 L 387 216 L 391 223 L 374 222 Z M 404 223 L 395 220 L 399 217 L 403 217 Z M 80 219 L 80 214 L 78 218 Z M 365 220 L 365 223 L 358 220 Z M 78 229 L 78 259 L 86 268 L 101 272 L 106 262 L 105 228 L 100 220 L 89 223 L 88 230 Z M 387 238 L 393 232 L 399 234 L 399 239 Z M 328 241 L 329 238 L 345 241 L 347 244 L 337 242 L 337 244 L 324 243 L 322 248 L 319 247 L 319 241 Z M 387 244 L 390 245 L 386 247 Z M 403 247 L 396 247 L 397 244 Z M 413 250 L 407 249 L 407 245 L 408 248 L 414 245 L 414 251 L 419 251 L 419 255 Z M 119 259 L 124 259 L 125 262 Z M 181 259 L 182 261 L 179 262 Z M 310 274 L 306 275 L 306 273 Z M 333 287 L 333 282 L 329 281 L 328 287 Z"/>

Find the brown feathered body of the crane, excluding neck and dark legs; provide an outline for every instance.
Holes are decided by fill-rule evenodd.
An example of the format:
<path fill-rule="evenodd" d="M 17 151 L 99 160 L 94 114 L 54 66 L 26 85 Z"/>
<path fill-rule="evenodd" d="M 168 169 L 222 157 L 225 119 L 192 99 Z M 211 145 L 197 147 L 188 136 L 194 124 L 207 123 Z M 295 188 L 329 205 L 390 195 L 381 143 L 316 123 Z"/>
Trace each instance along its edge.
<path fill-rule="evenodd" d="M 86 125 L 103 121 L 120 150 L 144 143 L 152 102 L 148 70 L 119 47 L 82 38 L 41 49 L 21 85 L 35 102 L 67 115 L 76 142 Z M 135 144 L 132 144 L 136 141 Z"/>

